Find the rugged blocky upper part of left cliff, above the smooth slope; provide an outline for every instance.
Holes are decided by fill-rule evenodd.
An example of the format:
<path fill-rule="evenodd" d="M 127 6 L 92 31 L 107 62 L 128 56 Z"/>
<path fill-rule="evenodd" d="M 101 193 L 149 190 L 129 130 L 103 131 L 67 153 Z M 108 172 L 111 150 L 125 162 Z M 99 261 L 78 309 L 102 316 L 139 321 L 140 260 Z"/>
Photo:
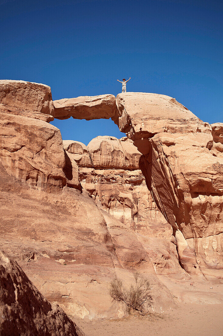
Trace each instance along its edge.
<path fill-rule="evenodd" d="M 80 189 L 78 167 L 74 162 L 66 176 L 66 165 L 72 163 L 63 151 L 60 130 L 49 124 L 51 107 L 54 111 L 50 87 L 0 81 L 0 101 L 1 163 L 8 174 L 32 188 L 63 187 L 71 179 Z"/>

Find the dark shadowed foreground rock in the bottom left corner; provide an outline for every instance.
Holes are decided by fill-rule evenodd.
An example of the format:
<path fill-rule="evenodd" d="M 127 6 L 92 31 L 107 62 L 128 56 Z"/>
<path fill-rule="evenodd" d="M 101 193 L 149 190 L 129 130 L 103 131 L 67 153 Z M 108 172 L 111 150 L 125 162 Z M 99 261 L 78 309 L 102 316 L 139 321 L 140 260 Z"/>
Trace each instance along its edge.
<path fill-rule="evenodd" d="M 84 336 L 58 305 L 51 305 L 18 264 L 0 251 L 0 334 Z"/>

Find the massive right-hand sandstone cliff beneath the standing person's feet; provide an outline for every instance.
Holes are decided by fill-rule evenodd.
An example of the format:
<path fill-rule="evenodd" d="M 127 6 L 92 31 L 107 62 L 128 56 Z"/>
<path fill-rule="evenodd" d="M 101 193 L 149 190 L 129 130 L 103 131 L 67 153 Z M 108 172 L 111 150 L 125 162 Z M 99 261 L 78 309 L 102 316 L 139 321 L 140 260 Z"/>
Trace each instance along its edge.
<path fill-rule="evenodd" d="M 116 100 L 114 121 L 144 154 L 140 168 L 173 227 L 182 266 L 222 279 L 222 124 L 211 127 L 168 96 L 127 93 Z"/>

